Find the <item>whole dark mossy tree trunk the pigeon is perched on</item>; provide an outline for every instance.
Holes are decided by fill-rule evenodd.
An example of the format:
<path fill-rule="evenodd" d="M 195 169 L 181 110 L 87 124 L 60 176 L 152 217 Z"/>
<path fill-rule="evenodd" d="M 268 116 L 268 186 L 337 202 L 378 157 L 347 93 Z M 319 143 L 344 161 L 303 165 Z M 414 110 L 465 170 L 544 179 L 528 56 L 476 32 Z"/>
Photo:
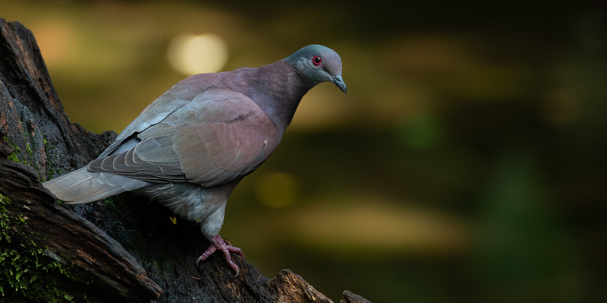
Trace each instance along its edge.
<path fill-rule="evenodd" d="M 63 111 L 32 33 L 0 19 L 0 291 L 10 302 L 331 302 L 290 270 L 273 279 L 232 255 L 196 266 L 197 225 L 124 194 L 65 205 L 44 181 L 86 165 L 116 133 Z M 0 301 L 2 301 L 0 300 Z M 344 291 L 342 302 L 368 302 Z"/>

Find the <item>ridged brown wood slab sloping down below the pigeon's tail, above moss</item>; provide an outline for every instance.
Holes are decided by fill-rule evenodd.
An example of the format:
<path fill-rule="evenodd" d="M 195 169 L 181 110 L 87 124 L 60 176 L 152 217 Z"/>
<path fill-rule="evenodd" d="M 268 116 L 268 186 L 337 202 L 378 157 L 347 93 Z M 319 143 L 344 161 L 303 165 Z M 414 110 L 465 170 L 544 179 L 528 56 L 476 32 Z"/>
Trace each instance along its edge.
<path fill-rule="evenodd" d="M 0 132 L 0 135 L 5 133 Z M 94 281 L 97 284 L 95 288 L 74 286 L 81 287 L 83 291 L 98 298 L 141 301 L 160 295 L 160 287 L 146 276 L 135 258 L 124 251 L 118 242 L 89 221 L 57 204 L 52 194 L 38 182 L 33 167 L 8 161 L 6 158 L 10 154 L 7 151 L 12 152 L 12 148 L 4 141 L 0 145 L 3 145 L 0 149 L 0 190 L 11 201 L 5 205 L 5 209 L 8 218 L 16 223 L 8 222 L 5 235 L 6 238 L 10 237 L 10 242 L 6 238 L 2 239 L 3 248 L 13 251 L 19 247 L 24 248 L 21 255 L 41 249 L 38 252 L 40 258 L 53 259 L 46 261 L 47 264 L 55 262 L 67 265 L 66 270 L 73 269 L 73 275 L 78 276 L 77 279 Z M 16 275 L 19 268 L 13 269 Z M 29 269 L 39 268 L 34 265 L 34 268 Z M 67 278 L 61 275 L 56 277 L 64 279 L 64 285 L 73 284 Z"/>

